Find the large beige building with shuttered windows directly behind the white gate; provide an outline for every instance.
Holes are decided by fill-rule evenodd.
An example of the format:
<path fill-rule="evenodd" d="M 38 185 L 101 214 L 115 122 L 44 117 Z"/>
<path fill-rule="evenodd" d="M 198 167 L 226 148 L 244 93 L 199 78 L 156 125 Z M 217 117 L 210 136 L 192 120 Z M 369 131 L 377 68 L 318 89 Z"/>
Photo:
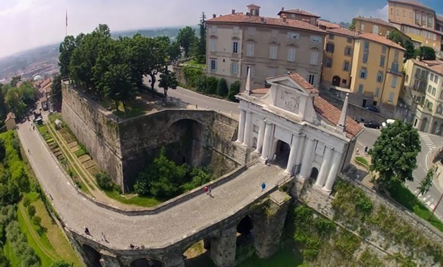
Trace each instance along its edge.
<path fill-rule="evenodd" d="M 253 89 L 264 87 L 267 77 L 288 71 L 318 87 L 326 32 L 295 19 L 299 15 L 292 11 L 271 18 L 260 16 L 256 5 L 247 8 L 246 13 L 232 10 L 207 20 L 207 74 L 226 78 L 228 83 L 240 80 L 244 85 L 247 66 L 251 66 Z M 294 18 L 289 18 L 291 14 Z"/>

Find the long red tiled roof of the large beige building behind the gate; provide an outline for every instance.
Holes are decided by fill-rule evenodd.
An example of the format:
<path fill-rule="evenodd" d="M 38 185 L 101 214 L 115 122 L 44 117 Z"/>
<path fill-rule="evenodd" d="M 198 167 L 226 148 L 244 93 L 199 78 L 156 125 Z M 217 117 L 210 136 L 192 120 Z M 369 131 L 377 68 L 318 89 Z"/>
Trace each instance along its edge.
<path fill-rule="evenodd" d="M 262 22 L 263 18 L 263 22 Z M 261 25 L 272 25 L 272 26 L 283 26 L 289 28 L 297 28 L 302 30 L 308 30 L 318 33 L 326 33 L 325 31 L 317 28 L 316 26 L 296 19 L 286 19 L 283 18 L 269 18 L 261 16 L 250 16 L 243 13 L 235 13 L 229 15 L 223 15 L 215 18 L 208 19 L 206 22 L 219 22 L 219 23 L 251 23 L 251 24 L 261 24 Z"/>

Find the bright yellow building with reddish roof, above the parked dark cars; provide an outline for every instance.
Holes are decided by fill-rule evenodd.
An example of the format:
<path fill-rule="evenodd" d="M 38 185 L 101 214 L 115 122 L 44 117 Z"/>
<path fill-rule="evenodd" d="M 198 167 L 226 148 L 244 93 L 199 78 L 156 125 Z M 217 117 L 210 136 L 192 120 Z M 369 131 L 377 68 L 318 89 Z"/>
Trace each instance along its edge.
<path fill-rule="evenodd" d="M 359 35 L 354 44 L 349 100 L 363 107 L 377 105 L 382 113 L 393 114 L 403 84 L 404 51 L 379 35 Z"/>

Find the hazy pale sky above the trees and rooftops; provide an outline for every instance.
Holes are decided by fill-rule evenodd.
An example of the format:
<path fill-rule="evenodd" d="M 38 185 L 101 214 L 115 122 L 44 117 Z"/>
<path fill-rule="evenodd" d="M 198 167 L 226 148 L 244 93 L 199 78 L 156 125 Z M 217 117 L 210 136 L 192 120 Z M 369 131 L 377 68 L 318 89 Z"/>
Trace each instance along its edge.
<path fill-rule="evenodd" d="M 111 31 L 198 24 L 201 12 L 245 12 L 246 5 L 261 6 L 260 14 L 276 16 L 282 7 L 301 8 L 331 21 L 349 22 L 357 15 L 386 19 L 385 0 L 0 0 L 0 59 L 16 52 L 57 43 L 68 34 L 90 32 L 99 23 Z M 443 13 L 441 0 L 421 2 Z"/>

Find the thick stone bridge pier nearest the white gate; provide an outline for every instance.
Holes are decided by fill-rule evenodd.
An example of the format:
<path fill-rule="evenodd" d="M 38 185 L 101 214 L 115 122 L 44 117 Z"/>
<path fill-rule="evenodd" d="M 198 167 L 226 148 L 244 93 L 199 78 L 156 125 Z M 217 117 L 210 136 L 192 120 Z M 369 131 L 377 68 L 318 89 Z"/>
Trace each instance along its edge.
<path fill-rule="evenodd" d="M 270 257 L 279 250 L 291 199 L 281 191 L 274 191 L 269 197 L 268 212 L 261 211 L 254 216 L 254 247 L 260 258 Z"/>

